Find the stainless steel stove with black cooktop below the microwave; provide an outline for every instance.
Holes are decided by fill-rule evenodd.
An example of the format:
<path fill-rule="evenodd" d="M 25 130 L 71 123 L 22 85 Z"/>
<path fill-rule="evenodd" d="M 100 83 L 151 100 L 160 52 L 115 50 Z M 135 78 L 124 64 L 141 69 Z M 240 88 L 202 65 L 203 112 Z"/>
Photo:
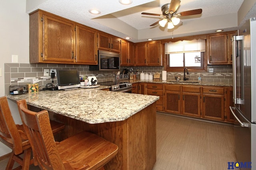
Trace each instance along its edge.
<path fill-rule="evenodd" d="M 132 93 L 132 83 L 130 82 L 102 82 L 104 86 L 111 86 L 111 91 Z"/>

